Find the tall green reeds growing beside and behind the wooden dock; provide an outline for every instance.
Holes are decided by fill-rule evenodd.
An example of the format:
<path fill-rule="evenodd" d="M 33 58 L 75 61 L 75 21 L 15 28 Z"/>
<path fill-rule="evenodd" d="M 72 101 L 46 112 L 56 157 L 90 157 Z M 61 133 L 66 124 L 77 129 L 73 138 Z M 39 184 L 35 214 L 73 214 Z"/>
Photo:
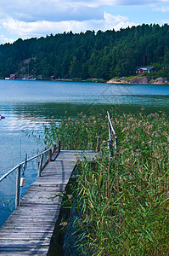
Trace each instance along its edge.
<path fill-rule="evenodd" d="M 66 201 L 73 208 L 74 246 L 79 255 L 168 255 L 168 118 L 111 116 L 118 137 L 111 160 L 107 117 L 81 113 L 46 127 L 46 139 L 60 139 L 66 149 L 95 149 L 96 137 L 102 138 L 95 163 L 78 163 Z"/>

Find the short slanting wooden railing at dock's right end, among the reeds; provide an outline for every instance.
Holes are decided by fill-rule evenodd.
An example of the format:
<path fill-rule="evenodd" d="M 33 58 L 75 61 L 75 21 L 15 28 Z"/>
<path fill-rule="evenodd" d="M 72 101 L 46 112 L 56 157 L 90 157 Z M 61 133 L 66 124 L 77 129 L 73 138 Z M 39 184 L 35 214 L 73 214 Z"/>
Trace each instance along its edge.
<path fill-rule="evenodd" d="M 107 117 L 108 117 L 108 127 L 109 127 L 108 149 L 110 149 L 110 154 L 111 154 L 111 150 L 113 148 L 114 154 L 116 154 L 117 136 L 116 136 L 115 129 L 114 129 L 111 119 L 110 119 L 110 113 L 108 111 L 107 111 Z"/>

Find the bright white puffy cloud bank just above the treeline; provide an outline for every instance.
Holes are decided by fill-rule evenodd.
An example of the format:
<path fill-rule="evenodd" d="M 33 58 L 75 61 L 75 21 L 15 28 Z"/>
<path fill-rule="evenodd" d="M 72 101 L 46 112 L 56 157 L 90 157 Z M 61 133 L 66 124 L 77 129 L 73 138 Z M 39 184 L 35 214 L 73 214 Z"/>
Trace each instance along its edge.
<path fill-rule="evenodd" d="M 127 17 L 121 15 L 110 15 L 104 12 L 102 20 L 70 20 L 70 21 L 47 21 L 38 20 L 35 22 L 24 22 L 9 18 L 3 20 L 2 25 L 11 34 L 18 35 L 18 37 L 40 37 L 44 34 L 59 33 L 59 32 L 86 32 L 87 30 L 119 30 L 121 27 L 134 26 L 136 24 L 127 20 Z"/>

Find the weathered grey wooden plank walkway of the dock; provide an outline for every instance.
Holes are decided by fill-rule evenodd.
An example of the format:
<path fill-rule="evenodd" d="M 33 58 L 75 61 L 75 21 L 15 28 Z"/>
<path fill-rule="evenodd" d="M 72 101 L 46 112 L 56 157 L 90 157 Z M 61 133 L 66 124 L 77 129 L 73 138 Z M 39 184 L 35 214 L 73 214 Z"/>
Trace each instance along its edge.
<path fill-rule="evenodd" d="M 61 205 L 59 197 L 52 197 L 65 191 L 76 159 L 84 156 L 92 161 L 96 153 L 64 150 L 48 163 L 0 229 L 0 254 L 48 255 Z"/>

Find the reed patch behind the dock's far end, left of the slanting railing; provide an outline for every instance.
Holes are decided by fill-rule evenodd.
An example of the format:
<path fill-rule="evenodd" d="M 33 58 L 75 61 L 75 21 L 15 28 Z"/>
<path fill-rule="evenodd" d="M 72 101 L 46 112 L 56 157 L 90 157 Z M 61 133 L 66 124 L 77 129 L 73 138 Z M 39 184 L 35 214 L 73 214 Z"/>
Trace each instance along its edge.
<path fill-rule="evenodd" d="M 107 136 L 106 119 L 101 114 L 87 117 L 80 113 L 77 119 L 61 118 L 59 125 L 52 119 L 44 126 L 44 142 L 52 145 L 61 140 L 61 147 L 65 149 L 95 150 L 97 137 Z"/>

